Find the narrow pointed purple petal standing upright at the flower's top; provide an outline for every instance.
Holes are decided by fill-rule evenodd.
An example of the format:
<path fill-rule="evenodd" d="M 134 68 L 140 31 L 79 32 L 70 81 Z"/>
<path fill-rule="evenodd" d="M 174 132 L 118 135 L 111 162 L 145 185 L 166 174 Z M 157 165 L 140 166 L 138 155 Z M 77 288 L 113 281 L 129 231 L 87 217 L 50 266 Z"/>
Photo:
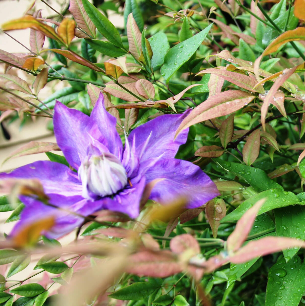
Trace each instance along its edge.
<path fill-rule="evenodd" d="M 90 118 L 96 122 L 100 132 L 105 137 L 105 145 L 110 153 L 121 159 L 123 146 L 116 129 L 117 119 L 106 111 L 102 93 L 100 93 L 99 99 L 96 101 Z"/>

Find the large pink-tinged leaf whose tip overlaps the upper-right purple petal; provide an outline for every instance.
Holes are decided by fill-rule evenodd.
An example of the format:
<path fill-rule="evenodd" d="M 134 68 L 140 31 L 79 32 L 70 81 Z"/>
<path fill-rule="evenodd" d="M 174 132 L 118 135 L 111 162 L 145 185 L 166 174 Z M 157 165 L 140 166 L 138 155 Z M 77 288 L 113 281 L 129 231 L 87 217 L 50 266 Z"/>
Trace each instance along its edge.
<path fill-rule="evenodd" d="M 176 136 L 193 124 L 234 113 L 254 98 L 255 96 L 241 90 L 228 90 L 211 96 L 184 118 L 177 129 Z"/>

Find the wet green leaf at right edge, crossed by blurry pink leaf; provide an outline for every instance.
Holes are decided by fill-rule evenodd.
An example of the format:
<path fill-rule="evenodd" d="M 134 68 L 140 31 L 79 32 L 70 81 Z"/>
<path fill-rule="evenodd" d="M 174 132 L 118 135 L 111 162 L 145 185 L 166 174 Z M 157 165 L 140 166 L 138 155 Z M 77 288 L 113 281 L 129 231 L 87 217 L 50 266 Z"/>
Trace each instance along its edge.
<path fill-rule="evenodd" d="M 305 207 L 301 205 L 278 208 L 274 211 L 277 236 L 305 239 Z M 283 250 L 288 262 L 299 248 Z"/>

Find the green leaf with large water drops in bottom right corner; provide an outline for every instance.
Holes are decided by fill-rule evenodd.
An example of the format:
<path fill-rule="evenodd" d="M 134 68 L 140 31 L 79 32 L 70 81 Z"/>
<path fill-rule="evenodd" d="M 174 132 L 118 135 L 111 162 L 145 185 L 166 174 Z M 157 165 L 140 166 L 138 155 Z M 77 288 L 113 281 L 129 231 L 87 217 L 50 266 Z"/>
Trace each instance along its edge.
<path fill-rule="evenodd" d="M 305 291 L 305 262 L 281 258 L 269 270 L 265 306 L 299 305 Z"/>

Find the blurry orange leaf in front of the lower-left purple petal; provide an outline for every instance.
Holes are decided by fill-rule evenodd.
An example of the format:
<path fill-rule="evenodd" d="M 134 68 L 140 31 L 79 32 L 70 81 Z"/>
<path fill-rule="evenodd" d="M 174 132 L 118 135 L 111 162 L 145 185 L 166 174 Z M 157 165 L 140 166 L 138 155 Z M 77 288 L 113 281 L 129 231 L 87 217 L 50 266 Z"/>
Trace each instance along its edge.
<path fill-rule="evenodd" d="M 35 244 L 44 231 L 50 230 L 55 224 L 54 217 L 47 217 L 25 226 L 16 236 L 13 243 L 16 247 Z"/>

